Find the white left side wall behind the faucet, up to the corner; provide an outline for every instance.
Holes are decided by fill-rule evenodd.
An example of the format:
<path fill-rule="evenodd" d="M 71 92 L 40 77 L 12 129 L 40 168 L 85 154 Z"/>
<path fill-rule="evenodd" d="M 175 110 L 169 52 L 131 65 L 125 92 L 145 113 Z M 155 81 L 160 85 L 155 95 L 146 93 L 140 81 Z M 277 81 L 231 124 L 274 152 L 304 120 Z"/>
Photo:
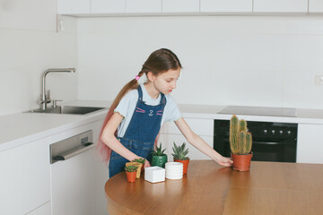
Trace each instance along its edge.
<path fill-rule="evenodd" d="M 57 32 L 56 0 L 0 0 L 0 116 L 39 107 L 46 69 L 77 66 L 76 20 L 62 19 Z M 75 74 L 48 74 L 52 99 L 77 98 Z"/>

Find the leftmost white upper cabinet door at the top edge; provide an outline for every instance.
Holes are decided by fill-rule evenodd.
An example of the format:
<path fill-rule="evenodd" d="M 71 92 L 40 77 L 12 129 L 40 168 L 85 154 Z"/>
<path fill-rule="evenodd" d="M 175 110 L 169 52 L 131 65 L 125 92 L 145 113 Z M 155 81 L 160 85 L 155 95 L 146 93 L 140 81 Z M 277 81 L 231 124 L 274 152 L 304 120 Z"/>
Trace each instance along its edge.
<path fill-rule="evenodd" d="M 91 13 L 91 0 L 57 0 L 57 13 Z"/>

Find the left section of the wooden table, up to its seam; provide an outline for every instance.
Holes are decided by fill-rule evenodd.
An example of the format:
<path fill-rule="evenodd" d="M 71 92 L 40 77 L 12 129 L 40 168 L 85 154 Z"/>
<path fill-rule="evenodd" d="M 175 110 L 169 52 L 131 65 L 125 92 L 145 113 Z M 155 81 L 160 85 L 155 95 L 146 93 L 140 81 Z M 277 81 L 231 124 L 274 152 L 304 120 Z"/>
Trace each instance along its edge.
<path fill-rule="evenodd" d="M 156 184 L 121 172 L 105 185 L 109 214 L 223 214 L 231 173 L 213 160 L 191 160 L 188 175 Z"/>

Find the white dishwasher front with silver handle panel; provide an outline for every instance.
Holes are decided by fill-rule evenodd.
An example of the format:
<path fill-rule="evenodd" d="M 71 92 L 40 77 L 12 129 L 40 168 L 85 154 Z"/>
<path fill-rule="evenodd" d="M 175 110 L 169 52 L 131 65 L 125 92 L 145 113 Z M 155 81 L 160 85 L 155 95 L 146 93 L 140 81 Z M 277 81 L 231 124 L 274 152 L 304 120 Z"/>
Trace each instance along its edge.
<path fill-rule="evenodd" d="M 95 214 L 92 131 L 51 144 L 50 155 L 52 215 Z"/>

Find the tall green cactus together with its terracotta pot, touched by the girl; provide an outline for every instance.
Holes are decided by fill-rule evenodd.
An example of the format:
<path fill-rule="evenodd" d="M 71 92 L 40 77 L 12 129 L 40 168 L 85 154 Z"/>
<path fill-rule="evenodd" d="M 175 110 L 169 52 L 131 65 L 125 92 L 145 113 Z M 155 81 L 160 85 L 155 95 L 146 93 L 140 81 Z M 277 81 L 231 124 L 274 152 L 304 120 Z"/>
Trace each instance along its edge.
<path fill-rule="evenodd" d="M 230 121 L 230 147 L 232 168 L 238 171 L 249 171 L 252 158 L 252 136 L 248 132 L 247 121 L 239 120 L 235 115 Z"/>

